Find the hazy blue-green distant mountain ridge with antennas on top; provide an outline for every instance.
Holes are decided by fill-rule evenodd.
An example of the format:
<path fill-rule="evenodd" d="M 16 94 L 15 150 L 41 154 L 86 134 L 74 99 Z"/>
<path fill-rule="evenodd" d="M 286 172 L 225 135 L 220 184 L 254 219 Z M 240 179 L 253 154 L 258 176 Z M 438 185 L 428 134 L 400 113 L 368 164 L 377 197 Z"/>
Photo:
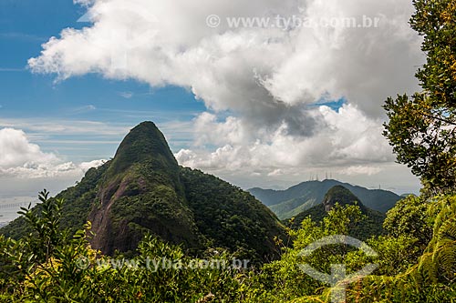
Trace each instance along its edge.
<path fill-rule="evenodd" d="M 295 217 L 299 213 L 320 204 L 326 192 L 335 186 L 346 187 L 366 206 L 386 213 L 401 199 L 398 195 L 383 189 L 368 189 L 352 186 L 337 180 L 306 181 L 285 190 L 254 187 L 248 191 L 269 207 L 280 219 Z"/>

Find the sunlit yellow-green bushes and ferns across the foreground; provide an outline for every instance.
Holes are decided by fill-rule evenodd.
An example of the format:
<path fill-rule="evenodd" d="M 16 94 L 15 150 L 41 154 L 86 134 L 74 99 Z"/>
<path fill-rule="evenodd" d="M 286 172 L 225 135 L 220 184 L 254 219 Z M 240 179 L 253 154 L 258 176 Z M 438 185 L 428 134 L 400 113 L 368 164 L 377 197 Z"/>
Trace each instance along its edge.
<path fill-rule="evenodd" d="M 358 206 L 337 205 L 321 223 L 307 218 L 289 230 L 293 246 L 279 241 L 282 257 L 256 268 L 233 267 L 232 255 L 213 249 L 194 260 L 150 236 L 136 257 L 108 258 L 88 244 L 90 224 L 74 236 L 59 228 L 64 201 L 48 199 L 46 192 L 40 199 L 40 214 L 24 209 L 33 230 L 27 237 L 0 238 L 2 302 L 329 302 L 331 288 L 299 265 L 330 273 L 331 264 L 346 264 L 350 274 L 368 263 L 378 268 L 348 284 L 347 302 L 456 300 L 456 196 L 400 201 L 385 221 L 389 235 L 367 241 L 377 257 L 340 244 L 304 256 L 303 249 L 321 237 L 347 235 L 366 219 Z M 202 259 L 226 260 L 228 267 Z"/>

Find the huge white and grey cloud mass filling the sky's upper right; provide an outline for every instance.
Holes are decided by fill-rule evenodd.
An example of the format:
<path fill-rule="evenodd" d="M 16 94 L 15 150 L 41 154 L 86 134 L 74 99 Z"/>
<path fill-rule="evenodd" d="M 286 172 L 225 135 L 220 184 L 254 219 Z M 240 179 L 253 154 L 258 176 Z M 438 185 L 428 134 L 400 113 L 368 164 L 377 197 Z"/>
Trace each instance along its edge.
<path fill-rule="evenodd" d="M 338 167 L 375 175 L 394 157 L 381 136 L 388 96 L 417 90 L 420 37 L 409 0 L 78 0 L 67 28 L 28 62 L 57 80 L 88 73 L 188 87 L 207 112 L 181 164 L 269 176 Z M 208 15 L 221 23 L 208 26 Z M 230 26 L 232 17 L 378 19 L 378 27 Z M 341 108 L 327 102 L 344 98 Z M 44 157 L 44 156 L 43 156 Z"/>

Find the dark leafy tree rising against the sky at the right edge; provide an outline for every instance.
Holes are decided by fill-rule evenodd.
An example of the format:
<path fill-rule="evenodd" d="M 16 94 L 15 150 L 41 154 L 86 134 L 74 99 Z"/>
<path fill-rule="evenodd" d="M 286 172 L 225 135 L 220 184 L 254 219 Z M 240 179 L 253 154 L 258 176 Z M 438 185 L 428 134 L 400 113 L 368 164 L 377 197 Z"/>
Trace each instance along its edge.
<path fill-rule="evenodd" d="M 456 2 L 415 0 L 411 27 L 423 36 L 427 62 L 416 76 L 422 92 L 389 97 L 384 108 L 398 162 L 421 178 L 427 194 L 456 189 Z"/>

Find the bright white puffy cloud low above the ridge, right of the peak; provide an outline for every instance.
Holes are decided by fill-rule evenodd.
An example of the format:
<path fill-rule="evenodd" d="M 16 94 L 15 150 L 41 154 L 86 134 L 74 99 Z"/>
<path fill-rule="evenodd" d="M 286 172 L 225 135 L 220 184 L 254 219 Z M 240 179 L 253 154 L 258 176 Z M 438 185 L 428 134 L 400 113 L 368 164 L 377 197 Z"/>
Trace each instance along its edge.
<path fill-rule="evenodd" d="M 381 123 L 368 118 L 356 107 L 342 106 L 338 112 L 319 106 L 312 112 L 325 125 L 315 136 L 290 135 L 286 125 L 274 133 L 246 139 L 248 126 L 233 117 L 217 122 L 211 114 L 196 119 L 199 146 L 212 143 L 226 145 L 213 152 L 196 153 L 189 149 L 176 154 L 178 161 L 189 167 L 250 169 L 268 167 L 351 166 L 354 163 L 384 163 L 394 160 L 388 142 L 381 136 Z M 234 120 L 234 121 L 233 121 Z M 277 169 L 270 176 L 277 175 Z M 351 170 L 353 173 L 354 170 Z M 364 174 L 362 170 L 358 170 Z"/>

